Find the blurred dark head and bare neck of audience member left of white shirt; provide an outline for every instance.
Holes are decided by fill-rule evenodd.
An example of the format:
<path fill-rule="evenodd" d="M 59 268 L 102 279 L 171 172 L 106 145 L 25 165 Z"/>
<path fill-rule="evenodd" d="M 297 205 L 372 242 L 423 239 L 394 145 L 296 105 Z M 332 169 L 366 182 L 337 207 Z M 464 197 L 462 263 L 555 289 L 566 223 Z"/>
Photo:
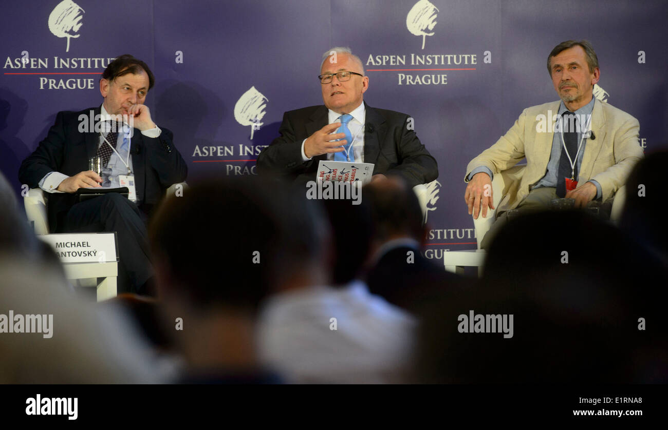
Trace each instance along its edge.
<path fill-rule="evenodd" d="M 317 241 L 293 199 L 255 178 L 216 179 L 156 213 L 149 239 L 164 323 L 188 365 L 180 382 L 280 381 L 257 357 L 259 303 L 280 283 L 321 281 L 295 257 Z"/>

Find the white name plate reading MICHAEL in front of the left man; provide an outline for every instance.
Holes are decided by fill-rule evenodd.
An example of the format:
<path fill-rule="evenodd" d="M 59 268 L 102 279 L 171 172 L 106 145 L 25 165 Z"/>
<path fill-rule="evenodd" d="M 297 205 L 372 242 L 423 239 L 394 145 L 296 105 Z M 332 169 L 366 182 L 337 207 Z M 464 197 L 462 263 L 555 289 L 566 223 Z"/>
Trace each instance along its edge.
<path fill-rule="evenodd" d="M 63 263 L 116 261 L 116 232 L 38 235 L 53 248 Z"/>

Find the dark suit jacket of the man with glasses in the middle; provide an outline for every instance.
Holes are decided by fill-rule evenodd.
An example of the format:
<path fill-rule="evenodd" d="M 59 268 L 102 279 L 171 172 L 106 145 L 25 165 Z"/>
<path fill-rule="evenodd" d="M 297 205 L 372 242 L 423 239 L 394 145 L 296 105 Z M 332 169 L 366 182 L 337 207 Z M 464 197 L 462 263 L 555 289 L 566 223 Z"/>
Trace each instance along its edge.
<path fill-rule="evenodd" d="M 373 174 L 399 175 L 414 187 L 438 177 L 436 159 L 409 130 L 405 113 L 375 109 L 365 103 L 364 162 L 373 163 Z M 325 105 L 305 107 L 283 115 L 281 137 L 263 149 L 257 159 L 258 173 L 274 173 L 297 183 L 315 181 L 315 171 L 327 154 L 302 161 L 301 143 L 329 123 Z"/>

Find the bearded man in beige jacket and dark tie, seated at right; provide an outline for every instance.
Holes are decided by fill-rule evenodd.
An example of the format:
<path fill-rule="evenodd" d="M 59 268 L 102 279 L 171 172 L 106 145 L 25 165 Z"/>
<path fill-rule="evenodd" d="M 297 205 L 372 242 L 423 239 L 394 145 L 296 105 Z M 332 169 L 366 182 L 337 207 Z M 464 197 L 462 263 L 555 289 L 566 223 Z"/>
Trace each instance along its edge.
<path fill-rule="evenodd" d="M 637 119 L 593 97 L 601 72 L 591 43 L 560 43 L 547 66 L 561 101 L 524 109 L 508 133 L 466 167 L 464 199 L 478 219 L 495 209 L 492 177 L 526 157 L 522 179 L 502 197 L 483 248 L 508 209 L 545 209 L 557 197 L 574 199 L 575 207 L 607 201 L 643 157 Z"/>

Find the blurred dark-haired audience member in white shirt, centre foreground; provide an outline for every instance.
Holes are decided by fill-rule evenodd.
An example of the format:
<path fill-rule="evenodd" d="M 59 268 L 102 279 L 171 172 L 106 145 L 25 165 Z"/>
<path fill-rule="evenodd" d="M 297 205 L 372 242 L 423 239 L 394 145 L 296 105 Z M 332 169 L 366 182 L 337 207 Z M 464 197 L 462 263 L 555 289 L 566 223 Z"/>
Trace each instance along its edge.
<path fill-rule="evenodd" d="M 281 292 L 267 301 L 260 332 L 263 359 L 291 383 L 405 381 L 415 319 L 369 293 L 360 281 L 373 235 L 369 204 L 364 199 L 359 205 L 345 199 L 323 203 L 331 243 L 311 239 L 315 251 L 295 255 L 294 281 L 279 285 Z M 293 210 L 305 212 L 299 206 Z M 299 235 L 317 237 L 313 228 L 325 231 L 309 223 Z"/>

